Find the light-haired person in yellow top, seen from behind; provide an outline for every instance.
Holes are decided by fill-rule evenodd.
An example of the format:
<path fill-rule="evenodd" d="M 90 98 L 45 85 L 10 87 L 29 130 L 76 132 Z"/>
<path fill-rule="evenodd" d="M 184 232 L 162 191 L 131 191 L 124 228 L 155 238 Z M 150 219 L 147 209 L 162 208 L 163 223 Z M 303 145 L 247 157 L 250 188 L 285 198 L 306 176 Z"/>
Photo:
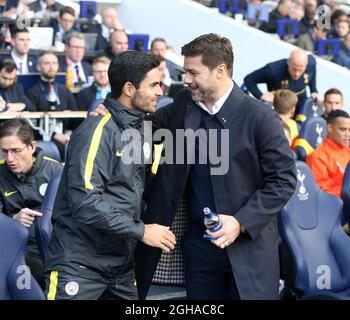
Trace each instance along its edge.
<path fill-rule="evenodd" d="M 295 108 L 298 103 L 298 96 L 295 92 L 288 89 L 277 90 L 273 99 L 273 107 L 281 120 L 287 124 L 290 129 L 290 138 L 293 144 L 295 138 L 299 135 L 298 125 L 294 117 Z"/>

